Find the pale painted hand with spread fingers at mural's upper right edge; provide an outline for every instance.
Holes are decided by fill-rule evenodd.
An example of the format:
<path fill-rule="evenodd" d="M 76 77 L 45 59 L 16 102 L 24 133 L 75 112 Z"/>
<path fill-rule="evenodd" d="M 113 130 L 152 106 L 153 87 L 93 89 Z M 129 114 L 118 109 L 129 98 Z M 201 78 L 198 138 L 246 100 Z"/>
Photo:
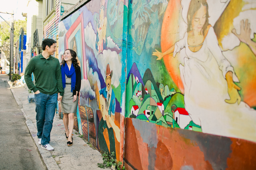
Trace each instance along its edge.
<path fill-rule="evenodd" d="M 245 20 L 241 20 L 241 33 L 240 35 L 237 34 L 236 30 L 233 29 L 232 32 L 235 34 L 235 36 L 237 36 L 239 38 L 240 41 L 242 41 L 243 43 L 246 43 L 247 45 L 249 45 L 251 38 L 251 29 L 250 29 L 250 23 L 248 23 L 248 19 Z"/>

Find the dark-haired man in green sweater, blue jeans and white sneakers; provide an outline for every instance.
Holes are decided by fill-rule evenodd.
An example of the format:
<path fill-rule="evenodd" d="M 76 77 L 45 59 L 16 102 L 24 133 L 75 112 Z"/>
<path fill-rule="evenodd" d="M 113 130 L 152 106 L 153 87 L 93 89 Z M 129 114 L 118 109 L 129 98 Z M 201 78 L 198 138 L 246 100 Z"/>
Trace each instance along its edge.
<path fill-rule="evenodd" d="M 50 132 L 53 127 L 57 99 L 62 99 L 64 90 L 59 60 L 51 56 L 56 51 L 56 41 L 43 40 L 42 50 L 41 54 L 30 59 L 24 77 L 27 87 L 35 93 L 38 143 L 43 149 L 53 151 L 54 148 L 49 144 Z M 31 79 L 32 73 L 35 84 Z"/>

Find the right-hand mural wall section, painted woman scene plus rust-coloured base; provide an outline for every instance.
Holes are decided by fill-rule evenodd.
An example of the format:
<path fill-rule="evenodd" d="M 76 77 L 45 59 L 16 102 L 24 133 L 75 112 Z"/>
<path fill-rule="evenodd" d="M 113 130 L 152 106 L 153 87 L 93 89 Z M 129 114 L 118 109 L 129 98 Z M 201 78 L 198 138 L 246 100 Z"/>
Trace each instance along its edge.
<path fill-rule="evenodd" d="M 255 13 L 247 0 L 129 1 L 129 169 L 256 168 Z"/>

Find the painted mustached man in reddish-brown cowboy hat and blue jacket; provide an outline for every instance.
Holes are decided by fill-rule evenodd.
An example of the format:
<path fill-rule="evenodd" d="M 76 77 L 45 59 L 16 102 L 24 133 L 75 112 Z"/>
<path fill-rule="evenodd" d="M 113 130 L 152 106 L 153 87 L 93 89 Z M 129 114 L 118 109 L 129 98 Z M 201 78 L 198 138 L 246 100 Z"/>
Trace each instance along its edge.
<path fill-rule="evenodd" d="M 106 105 L 106 110 L 109 113 L 109 116 L 111 115 L 115 115 L 115 94 L 114 91 L 111 87 L 111 78 L 113 75 L 112 70 L 110 71 L 110 67 L 109 64 L 107 64 L 107 69 L 106 69 L 106 85 L 107 87 L 102 88 L 99 91 L 100 95 L 103 95 L 103 97 L 105 97 L 105 99 L 107 99 L 107 105 Z"/>

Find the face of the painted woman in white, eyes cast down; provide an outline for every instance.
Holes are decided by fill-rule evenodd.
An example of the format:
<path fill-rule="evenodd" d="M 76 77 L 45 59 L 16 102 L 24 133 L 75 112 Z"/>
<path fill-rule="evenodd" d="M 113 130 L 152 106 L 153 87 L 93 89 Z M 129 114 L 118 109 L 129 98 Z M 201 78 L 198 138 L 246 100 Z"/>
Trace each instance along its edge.
<path fill-rule="evenodd" d="M 195 12 L 193 19 L 192 19 L 192 29 L 194 31 L 200 32 L 203 28 L 203 25 L 205 24 L 206 20 L 206 6 L 201 5 L 199 10 Z"/>

